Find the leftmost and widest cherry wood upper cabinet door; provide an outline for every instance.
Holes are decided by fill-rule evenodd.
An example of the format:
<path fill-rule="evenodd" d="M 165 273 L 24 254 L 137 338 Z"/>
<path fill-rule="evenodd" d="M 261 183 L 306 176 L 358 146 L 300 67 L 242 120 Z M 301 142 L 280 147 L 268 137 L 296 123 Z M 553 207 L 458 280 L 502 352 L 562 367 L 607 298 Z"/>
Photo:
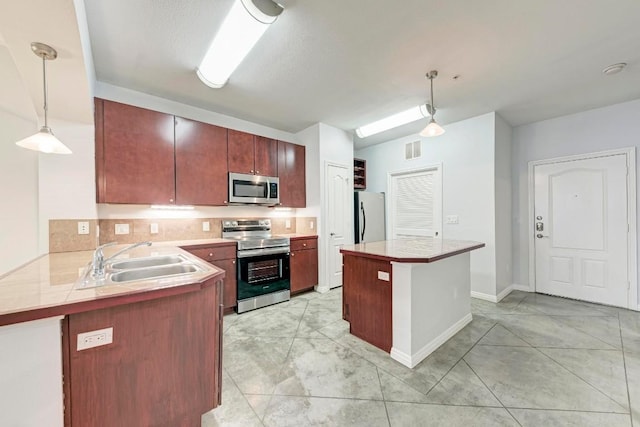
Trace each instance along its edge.
<path fill-rule="evenodd" d="M 98 203 L 175 200 L 173 116 L 96 99 Z"/>

